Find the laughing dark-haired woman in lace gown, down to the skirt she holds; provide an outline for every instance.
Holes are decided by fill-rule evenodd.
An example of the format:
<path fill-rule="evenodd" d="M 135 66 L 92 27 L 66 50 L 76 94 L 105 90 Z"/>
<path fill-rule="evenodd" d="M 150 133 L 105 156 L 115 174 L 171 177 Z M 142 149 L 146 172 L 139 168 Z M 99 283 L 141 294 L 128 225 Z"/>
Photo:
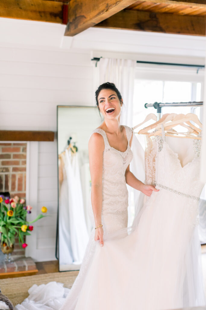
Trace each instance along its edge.
<path fill-rule="evenodd" d="M 133 133 L 131 128 L 120 125 L 123 105 L 120 92 L 113 83 L 107 82 L 99 86 L 95 95 L 104 121 L 89 140 L 91 203 L 95 218 L 95 241 L 99 240 L 100 246 L 103 246 L 104 230 L 111 232 L 127 227 L 126 183 L 147 196 L 158 190 L 143 184 L 129 170 Z M 115 163 L 111 166 L 112 160 Z M 109 167 L 106 168 L 107 165 Z M 99 226 L 102 223 L 103 226 Z"/>

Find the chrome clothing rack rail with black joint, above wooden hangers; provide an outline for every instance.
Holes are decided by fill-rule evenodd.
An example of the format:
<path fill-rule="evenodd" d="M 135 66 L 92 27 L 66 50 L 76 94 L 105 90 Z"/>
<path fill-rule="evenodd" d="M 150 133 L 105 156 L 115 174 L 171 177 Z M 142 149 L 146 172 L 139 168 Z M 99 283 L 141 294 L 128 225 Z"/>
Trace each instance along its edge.
<path fill-rule="evenodd" d="M 202 106 L 203 106 L 203 101 L 171 102 L 171 103 L 154 102 L 153 104 L 145 103 L 145 108 L 153 107 L 157 109 L 157 120 L 158 121 L 161 118 L 163 107 L 202 107 Z"/>

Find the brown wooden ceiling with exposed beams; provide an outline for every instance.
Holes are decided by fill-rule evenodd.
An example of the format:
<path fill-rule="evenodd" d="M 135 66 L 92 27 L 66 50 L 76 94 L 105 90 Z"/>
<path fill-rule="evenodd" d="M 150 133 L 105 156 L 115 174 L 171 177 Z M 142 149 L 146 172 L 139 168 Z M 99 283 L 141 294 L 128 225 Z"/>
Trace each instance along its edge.
<path fill-rule="evenodd" d="M 90 27 L 206 34 L 206 0 L 1 0 L 0 17 L 66 24 L 66 36 Z"/>

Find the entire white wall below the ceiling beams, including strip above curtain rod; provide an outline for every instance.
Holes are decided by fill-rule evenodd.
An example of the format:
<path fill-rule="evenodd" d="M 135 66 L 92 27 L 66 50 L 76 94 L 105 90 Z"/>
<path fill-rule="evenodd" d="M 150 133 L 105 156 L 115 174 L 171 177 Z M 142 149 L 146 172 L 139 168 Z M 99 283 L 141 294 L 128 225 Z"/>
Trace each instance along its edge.
<path fill-rule="evenodd" d="M 64 30 L 59 24 L 0 19 L 2 130 L 56 131 L 57 105 L 93 105 L 97 83 L 93 56 L 204 64 L 204 37 L 91 28 L 70 38 L 63 37 Z M 38 182 L 33 208 L 38 213 L 41 206 L 47 206 L 51 216 L 37 224 L 36 251 L 28 247 L 27 254 L 37 261 L 52 260 L 57 140 L 39 142 L 35 149 Z"/>

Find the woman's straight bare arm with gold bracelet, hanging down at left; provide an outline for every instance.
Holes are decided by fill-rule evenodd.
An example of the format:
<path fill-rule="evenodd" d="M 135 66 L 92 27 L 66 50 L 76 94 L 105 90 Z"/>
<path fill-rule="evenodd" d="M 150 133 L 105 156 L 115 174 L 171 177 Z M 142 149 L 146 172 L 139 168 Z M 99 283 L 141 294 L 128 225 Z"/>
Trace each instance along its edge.
<path fill-rule="evenodd" d="M 95 218 L 95 226 L 102 224 L 102 170 L 104 140 L 98 133 L 93 133 L 89 139 L 89 164 L 91 175 L 91 204 Z M 95 241 L 103 246 L 103 228 L 95 229 Z"/>

